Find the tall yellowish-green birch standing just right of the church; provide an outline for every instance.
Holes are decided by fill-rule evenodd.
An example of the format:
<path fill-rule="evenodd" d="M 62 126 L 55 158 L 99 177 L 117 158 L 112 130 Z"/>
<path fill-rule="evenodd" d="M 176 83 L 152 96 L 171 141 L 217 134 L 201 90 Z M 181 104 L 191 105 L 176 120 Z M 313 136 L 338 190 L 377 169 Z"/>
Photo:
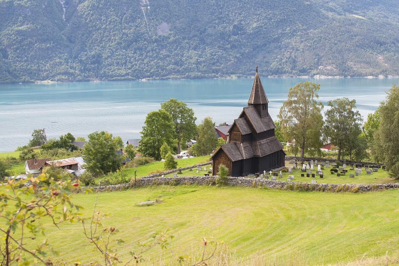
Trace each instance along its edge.
<path fill-rule="evenodd" d="M 280 113 L 282 133 L 290 141 L 293 150 L 301 150 L 300 160 L 309 150 L 320 149 L 323 104 L 318 99 L 320 84 L 310 81 L 300 82 L 288 91 L 288 99 L 283 101 Z"/>

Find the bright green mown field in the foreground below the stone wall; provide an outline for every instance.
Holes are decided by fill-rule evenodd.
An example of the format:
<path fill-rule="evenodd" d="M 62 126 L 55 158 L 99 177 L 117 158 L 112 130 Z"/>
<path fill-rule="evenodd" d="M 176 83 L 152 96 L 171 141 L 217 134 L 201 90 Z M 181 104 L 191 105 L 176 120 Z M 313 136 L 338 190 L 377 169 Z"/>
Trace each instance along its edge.
<path fill-rule="evenodd" d="M 95 198 L 96 193 L 77 194 L 73 201 L 90 216 Z M 137 205 L 154 199 L 162 202 Z M 167 250 L 147 252 L 144 265 L 178 265 L 179 255 L 199 254 L 203 236 L 224 241 L 223 265 L 320 265 L 384 256 L 386 251 L 397 257 L 398 205 L 398 190 L 352 194 L 162 185 L 99 193 L 96 211 L 111 214 L 103 226 L 120 230 L 115 239 L 125 240 L 118 247 L 122 261 L 137 250 L 138 241 L 169 228 L 176 238 Z M 81 224 L 46 226 L 46 231 L 61 257 L 100 259 Z"/>

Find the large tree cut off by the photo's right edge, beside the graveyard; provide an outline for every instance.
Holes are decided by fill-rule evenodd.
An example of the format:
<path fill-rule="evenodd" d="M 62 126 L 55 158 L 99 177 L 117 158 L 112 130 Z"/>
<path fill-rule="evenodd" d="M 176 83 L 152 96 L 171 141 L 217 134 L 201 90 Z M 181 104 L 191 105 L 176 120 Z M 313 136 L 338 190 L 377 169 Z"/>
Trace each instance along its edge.
<path fill-rule="evenodd" d="M 399 179 L 399 85 L 392 85 L 378 112 L 381 119 L 371 153 L 385 164 L 391 177 Z"/>

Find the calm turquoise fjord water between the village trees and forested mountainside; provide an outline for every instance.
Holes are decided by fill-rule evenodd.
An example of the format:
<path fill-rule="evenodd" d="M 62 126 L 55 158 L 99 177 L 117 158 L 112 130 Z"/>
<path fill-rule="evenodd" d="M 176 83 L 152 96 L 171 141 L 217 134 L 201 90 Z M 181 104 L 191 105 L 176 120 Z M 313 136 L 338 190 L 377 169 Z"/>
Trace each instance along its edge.
<path fill-rule="evenodd" d="M 277 119 L 288 88 L 306 80 L 320 83 L 319 99 L 356 99 L 364 118 L 385 99 L 397 78 L 261 77 L 269 113 Z M 162 81 L 108 81 L 0 85 L 0 152 L 26 145 L 34 129 L 48 138 L 71 132 L 75 137 L 97 130 L 127 139 L 140 138 L 147 113 L 176 98 L 194 109 L 197 124 L 210 116 L 231 124 L 247 105 L 253 78 Z M 326 107 L 325 107 L 326 109 Z"/>

